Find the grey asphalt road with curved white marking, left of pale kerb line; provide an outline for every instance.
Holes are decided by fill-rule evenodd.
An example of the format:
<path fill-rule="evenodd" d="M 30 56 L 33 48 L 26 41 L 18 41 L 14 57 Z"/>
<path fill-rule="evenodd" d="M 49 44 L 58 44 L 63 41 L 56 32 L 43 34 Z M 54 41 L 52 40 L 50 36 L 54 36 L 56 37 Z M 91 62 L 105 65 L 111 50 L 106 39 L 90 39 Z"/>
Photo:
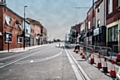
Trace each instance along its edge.
<path fill-rule="evenodd" d="M 66 51 L 55 45 L 0 54 L 0 80 L 77 80 Z"/>

